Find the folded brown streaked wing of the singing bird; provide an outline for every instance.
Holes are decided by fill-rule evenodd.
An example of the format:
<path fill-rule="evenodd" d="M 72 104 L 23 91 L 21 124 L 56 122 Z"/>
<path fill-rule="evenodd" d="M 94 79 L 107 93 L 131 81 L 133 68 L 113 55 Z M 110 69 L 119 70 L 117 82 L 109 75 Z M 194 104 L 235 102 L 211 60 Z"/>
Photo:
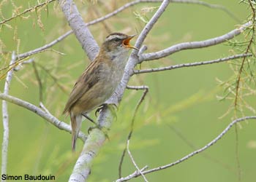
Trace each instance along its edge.
<path fill-rule="evenodd" d="M 99 81 L 99 71 L 102 64 L 94 60 L 83 74 L 78 78 L 78 81 L 75 83 L 72 92 L 69 95 L 69 100 L 64 108 L 63 114 L 70 111 L 70 108 Z"/>

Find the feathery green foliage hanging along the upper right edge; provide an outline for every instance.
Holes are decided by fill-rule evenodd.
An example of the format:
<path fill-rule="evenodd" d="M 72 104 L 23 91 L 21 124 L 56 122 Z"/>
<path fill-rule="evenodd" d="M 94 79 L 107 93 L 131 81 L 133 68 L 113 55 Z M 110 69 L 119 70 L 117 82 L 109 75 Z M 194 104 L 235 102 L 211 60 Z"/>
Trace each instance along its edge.
<path fill-rule="evenodd" d="M 220 81 L 224 88 L 219 100 L 230 100 L 230 107 L 223 116 L 233 113 L 234 118 L 248 114 L 256 114 L 256 105 L 251 102 L 256 93 L 256 59 L 255 59 L 255 2 L 241 1 L 251 11 L 245 22 L 252 22 L 246 28 L 244 36 L 240 39 L 228 41 L 227 46 L 232 47 L 233 54 L 252 53 L 252 57 L 238 61 L 230 61 L 230 69 L 233 75 L 227 81 Z"/>

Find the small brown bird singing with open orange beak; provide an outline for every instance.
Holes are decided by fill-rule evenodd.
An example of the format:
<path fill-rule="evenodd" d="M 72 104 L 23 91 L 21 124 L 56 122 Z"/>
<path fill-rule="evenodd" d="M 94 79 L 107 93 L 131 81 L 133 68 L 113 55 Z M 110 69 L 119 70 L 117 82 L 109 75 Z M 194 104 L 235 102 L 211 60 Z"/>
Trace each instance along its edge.
<path fill-rule="evenodd" d="M 69 113 L 70 116 L 73 151 L 82 116 L 101 106 L 113 95 L 124 74 L 129 48 L 138 50 L 129 44 L 134 36 L 127 36 L 124 33 L 111 33 L 107 36 L 97 57 L 75 83 L 63 111 L 63 114 Z"/>

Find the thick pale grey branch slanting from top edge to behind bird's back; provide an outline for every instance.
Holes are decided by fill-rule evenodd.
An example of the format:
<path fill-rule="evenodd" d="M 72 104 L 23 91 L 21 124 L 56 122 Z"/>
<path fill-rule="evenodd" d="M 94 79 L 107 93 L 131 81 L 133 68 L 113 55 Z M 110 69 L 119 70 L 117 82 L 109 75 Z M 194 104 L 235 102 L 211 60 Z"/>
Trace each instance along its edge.
<path fill-rule="evenodd" d="M 90 60 L 94 60 L 99 52 L 99 46 L 89 31 L 87 25 L 83 22 L 83 18 L 78 12 L 78 8 L 72 0 L 59 0 L 62 12 L 67 18 L 69 26 L 75 33 L 76 38 L 80 41 L 83 50 Z"/>

